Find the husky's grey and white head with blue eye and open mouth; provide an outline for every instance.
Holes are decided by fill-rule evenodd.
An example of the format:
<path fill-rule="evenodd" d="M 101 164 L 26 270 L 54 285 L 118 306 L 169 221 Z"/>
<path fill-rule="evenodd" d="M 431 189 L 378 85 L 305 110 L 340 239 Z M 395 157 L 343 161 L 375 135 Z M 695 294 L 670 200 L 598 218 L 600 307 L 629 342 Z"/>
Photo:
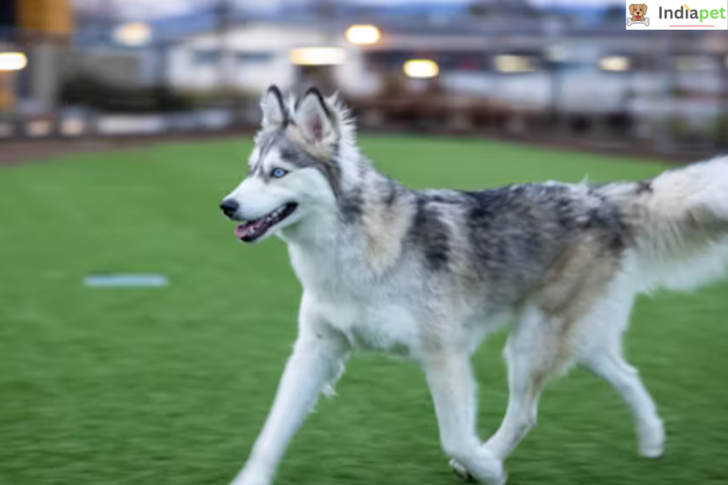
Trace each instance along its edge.
<path fill-rule="evenodd" d="M 336 95 L 309 89 L 283 100 L 272 86 L 261 100 L 263 122 L 248 161 L 248 176 L 223 199 L 221 209 L 242 222 L 236 234 L 263 241 L 313 213 L 335 207 L 341 193 L 342 145 L 354 145 L 348 111 Z"/>

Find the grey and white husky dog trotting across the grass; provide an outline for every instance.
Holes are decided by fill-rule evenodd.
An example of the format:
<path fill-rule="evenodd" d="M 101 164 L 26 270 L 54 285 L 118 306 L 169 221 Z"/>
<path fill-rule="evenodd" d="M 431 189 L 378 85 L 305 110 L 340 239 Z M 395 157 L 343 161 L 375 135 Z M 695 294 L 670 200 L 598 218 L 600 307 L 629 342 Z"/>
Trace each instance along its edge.
<path fill-rule="evenodd" d="M 272 411 L 234 485 L 269 485 L 293 433 L 354 349 L 422 366 L 440 441 L 464 478 L 504 484 L 506 457 L 534 426 L 539 396 L 574 364 L 630 406 L 638 450 L 665 432 L 622 355 L 636 294 L 694 289 L 728 259 L 728 159 L 607 185 L 543 183 L 414 191 L 357 149 L 336 97 L 271 87 L 248 177 L 221 209 L 237 237 L 288 244 L 304 288 L 298 340 Z M 510 399 L 499 430 L 476 431 L 470 356 L 504 320 Z"/>

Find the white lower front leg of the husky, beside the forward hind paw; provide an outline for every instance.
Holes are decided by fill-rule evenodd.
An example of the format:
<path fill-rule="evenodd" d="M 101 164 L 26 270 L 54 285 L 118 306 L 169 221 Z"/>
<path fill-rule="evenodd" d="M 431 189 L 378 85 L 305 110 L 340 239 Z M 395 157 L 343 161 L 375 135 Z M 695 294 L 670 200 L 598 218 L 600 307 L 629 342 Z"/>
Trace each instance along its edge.
<path fill-rule="evenodd" d="M 425 374 L 440 425 L 443 450 L 489 485 L 503 485 L 507 476 L 501 460 L 480 446 L 475 433 L 475 380 L 467 353 L 438 352 L 425 358 Z"/>

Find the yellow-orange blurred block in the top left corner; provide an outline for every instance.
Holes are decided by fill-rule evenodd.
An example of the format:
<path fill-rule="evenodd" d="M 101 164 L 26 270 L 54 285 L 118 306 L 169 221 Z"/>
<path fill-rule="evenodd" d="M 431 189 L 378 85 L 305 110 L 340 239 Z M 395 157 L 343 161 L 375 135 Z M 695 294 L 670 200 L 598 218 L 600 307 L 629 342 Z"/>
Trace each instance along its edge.
<path fill-rule="evenodd" d="M 0 0 L 8 1 L 8 0 Z M 70 0 L 15 0 L 18 26 L 31 35 L 67 37 L 74 32 Z"/>

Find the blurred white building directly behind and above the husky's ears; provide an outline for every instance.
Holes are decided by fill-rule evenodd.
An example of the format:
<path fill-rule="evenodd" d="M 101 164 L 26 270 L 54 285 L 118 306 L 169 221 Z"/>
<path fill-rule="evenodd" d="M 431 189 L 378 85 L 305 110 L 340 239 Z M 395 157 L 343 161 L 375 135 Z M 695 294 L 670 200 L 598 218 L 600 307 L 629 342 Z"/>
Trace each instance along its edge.
<path fill-rule="evenodd" d="M 198 33 L 170 47 L 168 55 L 167 81 L 186 91 L 227 84 L 257 95 L 270 84 L 289 89 L 317 82 L 367 94 L 377 86 L 365 70 L 363 51 L 344 41 L 338 26 L 308 20 L 244 23 L 224 36 Z"/>

